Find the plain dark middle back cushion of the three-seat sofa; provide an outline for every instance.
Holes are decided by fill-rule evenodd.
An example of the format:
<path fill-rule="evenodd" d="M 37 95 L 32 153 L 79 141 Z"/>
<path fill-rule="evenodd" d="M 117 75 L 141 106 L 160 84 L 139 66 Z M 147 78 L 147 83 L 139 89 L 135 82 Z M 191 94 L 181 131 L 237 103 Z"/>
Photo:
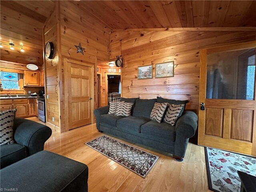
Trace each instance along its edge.
<path fill-rule="evenodd" d="M 156 99 L 136 100 L 132 116 L 150 118 L 150 113 L 154 107 Z"/>

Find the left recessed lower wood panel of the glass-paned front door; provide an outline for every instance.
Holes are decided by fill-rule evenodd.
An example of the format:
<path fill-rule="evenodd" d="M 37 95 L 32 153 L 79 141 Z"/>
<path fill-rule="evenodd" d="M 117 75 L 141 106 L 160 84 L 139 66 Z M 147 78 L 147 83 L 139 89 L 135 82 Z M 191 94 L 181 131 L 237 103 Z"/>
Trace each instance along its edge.
<path fill-rule="evenodd" d="M 222 137 L 224 110 L 219 108 L 206 108 L 205 134 Z"/>

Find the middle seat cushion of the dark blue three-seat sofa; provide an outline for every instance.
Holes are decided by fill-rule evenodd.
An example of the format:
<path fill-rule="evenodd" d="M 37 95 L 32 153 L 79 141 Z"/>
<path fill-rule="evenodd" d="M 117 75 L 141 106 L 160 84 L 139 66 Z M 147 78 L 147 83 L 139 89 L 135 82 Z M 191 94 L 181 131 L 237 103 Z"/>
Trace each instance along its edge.
<path fill-rule="evenodd" d="M 126 117 L 119 119 L 116 125 L 118 127 L 118 130 L 122 130 L 123 132 L 140 133 L 140 126 L 149 121 L 150 119 L 144 117 Z"/>

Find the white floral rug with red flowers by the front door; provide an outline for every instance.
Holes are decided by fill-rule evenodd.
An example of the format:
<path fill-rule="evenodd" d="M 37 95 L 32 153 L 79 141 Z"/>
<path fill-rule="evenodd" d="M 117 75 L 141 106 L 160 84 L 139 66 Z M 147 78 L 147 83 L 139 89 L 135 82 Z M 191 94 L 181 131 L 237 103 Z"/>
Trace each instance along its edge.
<path fill-rule="evenodd" d="M 209 189 L 215 192 L 240 192 L 237 170 L 256 176 L 256 159 L 215 148 L 205 147 Z"/>

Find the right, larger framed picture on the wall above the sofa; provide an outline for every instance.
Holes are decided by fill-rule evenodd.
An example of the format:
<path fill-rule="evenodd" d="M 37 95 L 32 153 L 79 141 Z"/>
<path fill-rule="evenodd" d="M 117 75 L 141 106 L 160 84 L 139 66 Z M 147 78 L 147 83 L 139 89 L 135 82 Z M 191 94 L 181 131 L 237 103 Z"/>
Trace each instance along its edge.
<path fill-rule="evenodd" d="M 156 64 L 156 78 L 173 77 L 174 61 Z"/>

